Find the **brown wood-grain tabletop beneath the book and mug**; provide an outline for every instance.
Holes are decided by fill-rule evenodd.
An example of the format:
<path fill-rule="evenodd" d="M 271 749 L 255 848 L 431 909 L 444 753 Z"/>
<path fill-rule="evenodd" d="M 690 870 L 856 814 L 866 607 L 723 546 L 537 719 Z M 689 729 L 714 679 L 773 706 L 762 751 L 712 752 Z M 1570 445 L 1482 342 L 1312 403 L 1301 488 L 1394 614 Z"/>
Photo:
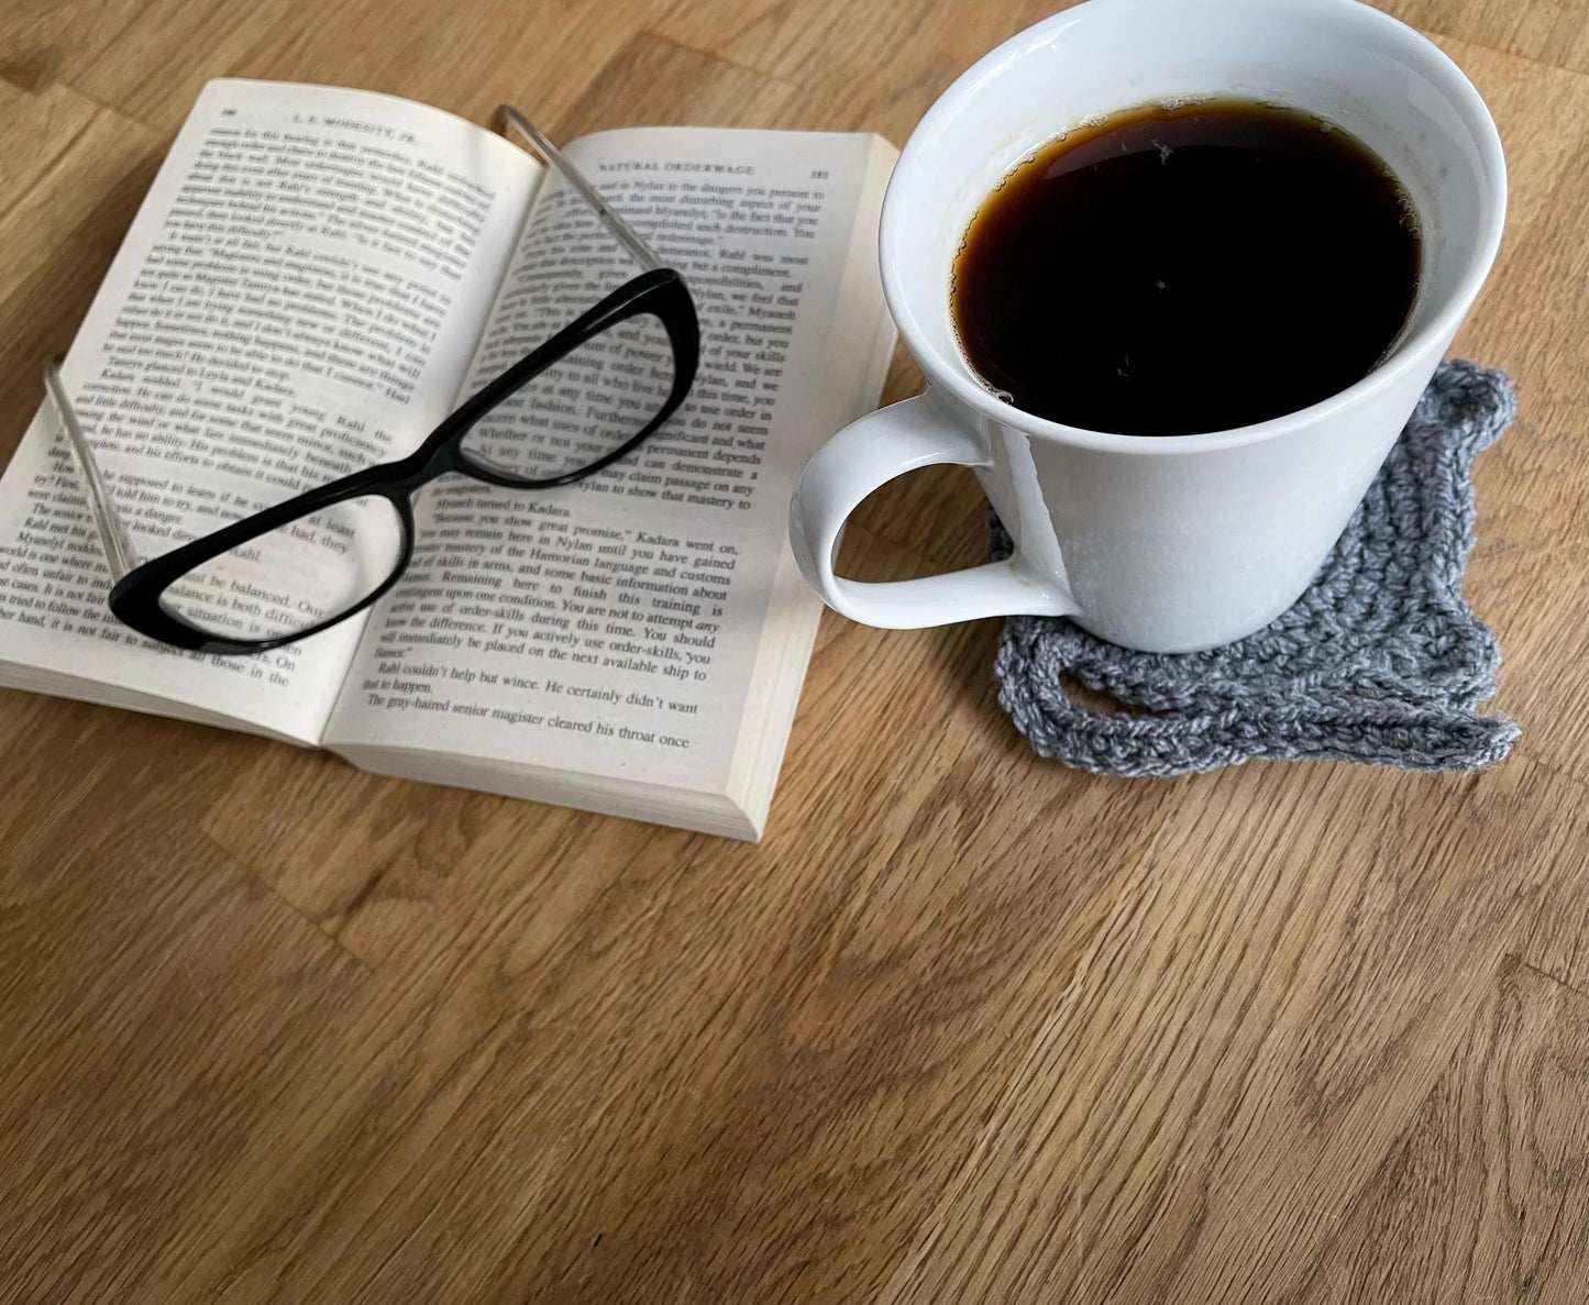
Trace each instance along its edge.
<path fill-rule="evenodd" d="M 1047 8 L 13 3 L 0 451 L 205 78 L 903 141 Z M 1505 766 L 1071 774 L 992 623 L 825 620 L 760 847 L 3 695 L 0 1299 L 1589 1297 L 1589 3 L 1395 8 L 1513 168 Z M 922 475 L 847 564 L 980 548 Z"/>

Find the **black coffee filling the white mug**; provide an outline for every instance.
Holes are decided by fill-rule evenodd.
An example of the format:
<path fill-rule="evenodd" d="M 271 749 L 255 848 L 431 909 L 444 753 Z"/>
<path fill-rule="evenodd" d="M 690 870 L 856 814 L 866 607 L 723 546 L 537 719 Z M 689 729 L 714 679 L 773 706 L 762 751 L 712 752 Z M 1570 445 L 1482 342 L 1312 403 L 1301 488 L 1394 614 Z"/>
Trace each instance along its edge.
<path fill-rule="evenodd" d="M 1044 146 L 984 200 L 952 308 L 1015 407 L 1190 436 L 1368 375 L 1421 258 L 1406 191 L 1340 127 L 1247 100 L 1149 106 Z"/>

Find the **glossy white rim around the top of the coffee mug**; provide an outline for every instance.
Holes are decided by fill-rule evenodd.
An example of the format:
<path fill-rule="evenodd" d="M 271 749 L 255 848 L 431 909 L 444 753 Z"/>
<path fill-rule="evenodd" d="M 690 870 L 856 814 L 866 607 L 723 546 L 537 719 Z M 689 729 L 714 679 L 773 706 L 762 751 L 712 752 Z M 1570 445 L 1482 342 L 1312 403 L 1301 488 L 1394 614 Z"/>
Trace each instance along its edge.
<path fill-rule="evenodd" d="M 903 286 L 907 272 L 895 258 L 893 245 L 895 227 L 899 226 L 899 223 L 909 221 L 912 215 L 904 208 L 903 192 L 896 189 L 895 183 L 899 175 L 926 149 L 926 135 L 930 130 L 925 129 L 931 129 L 941 119 L 953 113 L 961 100 L 980 91 L 982 84 L 998 76 L 1007 64 L 1022 57 L 1034 46 L 1046 45 L 1058 32 L 1074 25 L 1077 14 L 1085 10 L 1125 5 L 1152 10 L 1155 5 L 1165 2 L 1166 0 L 1084 0 L 1084 3 L 1052 14 L 1050 17 L 1017 32 L 1009 40 L 995 46 L 976 64 L 966 68 L 966 72 L 955 78 L 949 89 L 933 102 L 925 114 L 922 114 L 922 119 L 910 132 L 910 138 L 906 141 L 904 149 L 899 154 L 899 161 L 895 165 L 895 175 L 888 183 L 888 192 L 883 197 L 882 221 L 879 227 L 879 262 L 882 270 L 883 297 L 888 302 L 888 312 L 893 315 L 893 319 L 899 327 L 899 334 L 909 347 L 912 356 L 922 366 L 922 370 L 933 385 L 947 388 L 968 407 L 1003 426 L 1011 426 L 1028 436 L 1052 439 L 1060 443 L 1069 443 L 1082 448 L 1108 450 L 1112 453 L 1184 455 L 1262 443 L 1263 440 L 1284 436 L 1303 423 L 1330 418 L 1343 409 L 1352 407 L 1376 391 L 1392 385 L 1403 372 L 1419 366 L 1422 356 L 1430 347 L 1440 347 L 1443 340 L 1449 340 L 1478 297 L 1484 280 L 1489 277 L 1490 267 L 1494 267 L 1495 256 L 1500 251 L 1502 232 L 1506 224 L 1506 159 L 1502 149 L 1500 132 L 1495 127 L 1495 119 L 1490 116 L 1489 106 L 1484 103 L 1478 87 L 1473 86 L 1467 73 L 1463 73 L 1451 56 L 1448 56 L 1422 32 L 1397 17 L 1392 17 L 1382 10 L 1376 10 L 1373 5 L 1362 3 L 1362 0 L 1290 0 L 1298 11 L 1313 10 L 1316 13 L 1349 14 L 1359 22 L 1378 22 L 1386 35 L 1392 40 L 1401 41 L 1408 49 L 1414 51 L 1422 59 L 1424 70 L 1432 78 L 1438 79 L 1441 89 L 1451 97 L 1451 102 L 1460 111 L 1463 126 L 1471 134 L 1473 143 L 1483 159 L 1483 165 L 1489 172 L 1490 186 L 1484 194 L 1487 213 L 1481 216 L 1479 240 L 1475 245 L 1475 253 L 1463 269 L 1456 288 L 1449 292 L 1444 307 L 1419 329 L 1408 332 L 1408 335 L 1403 337 L 1395 347 L 1392 354 L 1368 372 L 1368 375 L 1362 380 L 1349 385 L 1346 389 L 1336 391 L 1327 399 L 1309 404 L 1305 409 L 1297 409 L 1295 412 L 1287 412 L 1281 416 L 1271 416 L 1265 421 L 1257 421 L 1247 426 L 1204 431 L 1192 436 L 1176 436 L 1173 439 L 1123 436 L 1111 431 L 1093 431 L 1085 426 L 1069 426 L 1063 421 L 1052 421 L 1046 416 L 1025 412 L 1023 409 L 990 394 L 971 377 L 969 364 L 965 362 L 958 350 L 955 350 L 953 359 L 945 359 L 941 351 L 926 340 L 915 313 L 910 310 L 909 299 Z M 1200 3 L 1204 8 L 1227 8 L 1231 5 L 1231 0 L 1168 2 L 1176 3 L 1176 8 L 1179 10 L 1184 10 L 1187 3 Z M 1238 5 L 1246 2 L 1247 0 L 1235 0 Z"/>

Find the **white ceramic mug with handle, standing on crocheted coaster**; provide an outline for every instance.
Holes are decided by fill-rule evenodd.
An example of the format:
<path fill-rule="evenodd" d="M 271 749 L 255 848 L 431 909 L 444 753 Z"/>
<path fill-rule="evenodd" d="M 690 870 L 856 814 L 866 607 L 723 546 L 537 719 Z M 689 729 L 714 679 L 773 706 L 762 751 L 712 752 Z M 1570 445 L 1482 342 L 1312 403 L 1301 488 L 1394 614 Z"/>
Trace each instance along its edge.
<path fill-rule="evenodd" d="M 1322 114 L 1397 172 L 1424 234 L 1400 343 L 1320 404 L 1212 434 L 1084 431 L 998 399 L 950 323 L 950 264 L 977 205 L 1069 127 L 1206 95 Z M 1088 0 L 1039 22 L 950 86 L 899 157 L 882 277 L 928 388 L 812 458 L 790 510 L 801 571 L 844 615 L 896 629 L 1068 615 L 1149 652 L 1262 629 L 1308 587 L 1390 451 L 1489 273 L 1505 210 L 1500 138 L 1479 94 L 1436 46 L 1357 0 Z M 1241 383 L 1233 358 L 1230 385 Z M 934 463 L 974 469 L 1015 555 L 898 583 L 836 577 L 850 512 Z"/>

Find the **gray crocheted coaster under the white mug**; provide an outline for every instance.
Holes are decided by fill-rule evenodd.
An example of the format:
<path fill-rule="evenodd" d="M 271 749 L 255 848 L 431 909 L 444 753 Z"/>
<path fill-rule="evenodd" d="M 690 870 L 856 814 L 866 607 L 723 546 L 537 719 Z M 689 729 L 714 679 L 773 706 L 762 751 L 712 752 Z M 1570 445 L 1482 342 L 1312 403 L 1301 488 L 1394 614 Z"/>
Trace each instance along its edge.
<path fill-rule="evenodd" d="M 1130 652 L 1063 618 L 1011 617 L 995 663 L 999 703 L 1039 755 L 1098 774 L 1187 774 L 1254 757 L 1430 771 L 1500 761 L 1521 731 L 1475 711 L 1495 691 L 1500 647 L 1463 601 L 1462 571 L 1473 458 L 1514 413 L 1503 374 L 1441 364 L 1290 610 L 1201 653 Z M 993 521 L 995 556 L 1009 548 Z M 1120 711 L 1074 701 L 1068 680 Z"/>

